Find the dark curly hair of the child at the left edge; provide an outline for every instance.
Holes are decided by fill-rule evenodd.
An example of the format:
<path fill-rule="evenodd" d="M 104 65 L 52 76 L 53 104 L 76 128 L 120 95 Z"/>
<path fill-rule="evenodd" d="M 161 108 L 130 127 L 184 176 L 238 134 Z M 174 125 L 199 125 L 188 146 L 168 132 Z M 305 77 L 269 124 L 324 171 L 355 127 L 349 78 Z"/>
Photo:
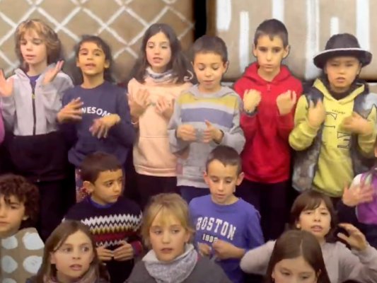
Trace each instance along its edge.
<path fill-rule="evenodd" d="M 20 175 L 2 175 L 0 176 L 0 195 L 4 195 L 6 204 L 9 204 L 9 198 L 14 196 L 25 206 L 25 215 L 29 217 L 21 222 L 20 229 L 32 227 L 37 223 L 40 194 L 33 183 Z"/>

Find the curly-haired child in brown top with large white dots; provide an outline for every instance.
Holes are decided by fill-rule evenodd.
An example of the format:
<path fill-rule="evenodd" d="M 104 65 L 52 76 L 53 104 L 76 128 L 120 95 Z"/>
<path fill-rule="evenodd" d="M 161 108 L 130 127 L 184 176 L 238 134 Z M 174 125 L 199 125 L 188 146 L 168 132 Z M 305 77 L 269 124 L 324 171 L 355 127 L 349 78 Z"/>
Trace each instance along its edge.
<path fill-rule="evenodd" d="M 0 282 L 25 282 L 42 264 L 44 244 L 33 228 L 39 191 L 18 175 L 0 177 Z"/>

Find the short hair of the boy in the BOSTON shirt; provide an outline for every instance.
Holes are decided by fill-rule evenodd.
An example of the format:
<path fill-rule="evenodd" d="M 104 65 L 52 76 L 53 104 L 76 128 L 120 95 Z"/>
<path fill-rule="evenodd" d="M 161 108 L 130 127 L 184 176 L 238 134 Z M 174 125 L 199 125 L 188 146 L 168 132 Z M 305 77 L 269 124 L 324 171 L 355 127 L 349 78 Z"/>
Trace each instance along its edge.
<path fill-rule="evenodd" d="M 209 164 L 214 161 L 220 161 L 224 166 L 237 166 L 237 173 L 242 171 L 242 161 L 240 155 L 231 146 L 217 146 L 211 151 L 207 157 L 206 171 L 208 171 Z"/>

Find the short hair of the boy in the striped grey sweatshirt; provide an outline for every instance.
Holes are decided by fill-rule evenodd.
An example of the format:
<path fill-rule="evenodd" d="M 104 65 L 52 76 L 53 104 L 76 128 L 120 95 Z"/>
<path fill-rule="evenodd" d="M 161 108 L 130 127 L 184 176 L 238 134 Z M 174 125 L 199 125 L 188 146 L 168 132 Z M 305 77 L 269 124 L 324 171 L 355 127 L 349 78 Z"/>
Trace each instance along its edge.
<path fill-rule="evenodd" d="M 218 36 L 203 35 L 195 40 L 191 50 L 191 60 L 194 62 L 198 53 L 215 53 L 221 56 L 224 63 L 228 62 L 228 50 L 224 40 Z"/>

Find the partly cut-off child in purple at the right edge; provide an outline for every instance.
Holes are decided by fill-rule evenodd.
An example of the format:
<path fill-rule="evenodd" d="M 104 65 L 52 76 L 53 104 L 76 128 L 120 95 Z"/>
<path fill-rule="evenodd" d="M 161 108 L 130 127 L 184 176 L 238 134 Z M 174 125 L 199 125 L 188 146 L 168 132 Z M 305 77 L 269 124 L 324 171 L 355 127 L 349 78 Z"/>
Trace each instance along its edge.
<path fill-rule="evenodd" d="M 377 140 L 374 144 L 377 157 Z M 338 203 L 338 215 L 342 221 L 357 226 L 371 246 L 377 248 L 377 166 L 356 175 L 349 188 L 345 188 Z"/>

